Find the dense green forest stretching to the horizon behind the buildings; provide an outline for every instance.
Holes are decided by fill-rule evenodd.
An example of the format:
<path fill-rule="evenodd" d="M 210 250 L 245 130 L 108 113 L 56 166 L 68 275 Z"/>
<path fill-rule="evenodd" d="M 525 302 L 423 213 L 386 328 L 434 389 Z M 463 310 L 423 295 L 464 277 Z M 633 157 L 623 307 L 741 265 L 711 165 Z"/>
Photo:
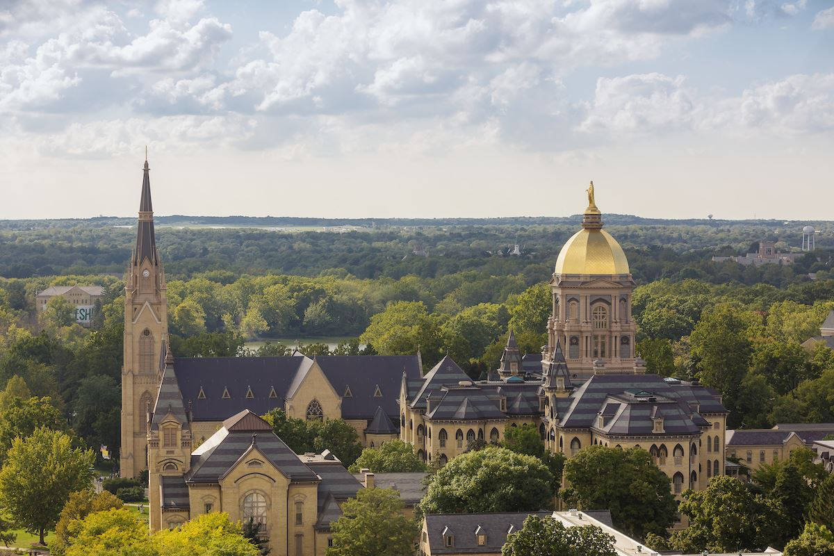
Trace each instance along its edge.
<path fill-rule="evenodd" d="M 450 353 L 479 378 L 498 363 L 510 328 L 525 351 L 545 342 L 546 282 L 577 228 L 567 220 L 376 222 L 341 232 L 158 226 L 172 348 L 179 356 L 287 353 L 275 338 L 292 337 L 306 338 L 303 351 L 314 355 L 330 350 L 314 338 L 350 337 L 336 353 L 420 349 L 427 368 Z M 135 228 L 7 224 L 0 226 L 0 389 L 16 384 L 48 397 L 79 441 L 113 448 L 122 277 Z M 834 421 L 834 354 L 800 346 L 834 308 L 834 229 L 818 228 L 816 252 L 796 264 L 742 267 L 711 257 L 749 252 L 760 239 L 796 250 L 796 226 L 608 226 L 639 284 L 638 350 L 651 372 L 700 378 L 720 390 L 731 426 Z M 516 241 L 522 254 L 507 254 Z M 74 324 L 72 306 L 60 299 L 39 316 L 34 311 L 38 290 L 73 283 L 105 287 L 91 328 Z M 246 346 L 255 338 L 267 340 L 257 351 Z"/>

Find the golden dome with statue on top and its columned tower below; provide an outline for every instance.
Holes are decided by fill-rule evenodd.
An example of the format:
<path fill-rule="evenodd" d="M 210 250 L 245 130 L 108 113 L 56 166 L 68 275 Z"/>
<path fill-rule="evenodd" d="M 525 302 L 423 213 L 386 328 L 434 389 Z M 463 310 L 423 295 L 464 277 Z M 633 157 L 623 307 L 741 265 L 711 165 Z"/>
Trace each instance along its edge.
<path fill-rule="evenodd" d="M 550 280 L 553 314 L 543 353 L 546 369 L 556 343 L 565 346 L 574 382 L 595 373 L 644 372 L 641 363 L 635 364 L 636 325 L 631 319 L 635 283 L 628 259 L 620 243 L 602 229 L 593 182 L 587 193 L 582 229 L 565 243 Z"/>

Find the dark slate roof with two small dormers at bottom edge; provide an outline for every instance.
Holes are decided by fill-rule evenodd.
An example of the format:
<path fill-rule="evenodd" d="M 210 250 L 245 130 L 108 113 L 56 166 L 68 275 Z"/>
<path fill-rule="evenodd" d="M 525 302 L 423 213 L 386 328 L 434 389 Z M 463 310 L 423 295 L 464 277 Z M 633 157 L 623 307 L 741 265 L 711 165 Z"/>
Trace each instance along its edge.
<path fill-rule="evenodd" d="M 549 517 L 552 512 L 520 513 L 429 513 L 425 526 L 429 535 L 432 554 L 449 553 L 501 553 L 507 541 L 507 533 L 519 531 L 529 515 Z M 475 531 L 480 528 L 486 533 L 486 546 L 478 546 Z M 443 533 L 448 530 L 455 537 L 455 546 L 447 548 Z"/>

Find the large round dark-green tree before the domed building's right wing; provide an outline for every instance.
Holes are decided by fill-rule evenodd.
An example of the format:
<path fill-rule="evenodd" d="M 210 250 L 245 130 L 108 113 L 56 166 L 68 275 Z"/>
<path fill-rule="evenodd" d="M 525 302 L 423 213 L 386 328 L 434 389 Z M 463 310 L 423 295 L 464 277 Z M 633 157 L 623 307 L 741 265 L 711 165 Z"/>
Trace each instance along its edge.
<path fill-rule="evenodd" d="M 615 527 L 632 537 L 662 534 L 674 521 L 669 478 L 642 448 L 583 448 L 565 462 L 565 481 L 560 495 L 570 507 L 610 509 Z"/>

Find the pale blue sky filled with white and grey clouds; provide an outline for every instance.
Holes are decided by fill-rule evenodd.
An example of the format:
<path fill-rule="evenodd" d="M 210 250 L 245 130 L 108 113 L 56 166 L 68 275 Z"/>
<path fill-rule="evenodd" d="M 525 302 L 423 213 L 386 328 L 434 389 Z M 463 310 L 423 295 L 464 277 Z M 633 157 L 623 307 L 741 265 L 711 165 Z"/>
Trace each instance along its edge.
<path fill-rule="evenodd" d="M 0 0 L 0 218 L 834 219 L 834 0 Z"/>

